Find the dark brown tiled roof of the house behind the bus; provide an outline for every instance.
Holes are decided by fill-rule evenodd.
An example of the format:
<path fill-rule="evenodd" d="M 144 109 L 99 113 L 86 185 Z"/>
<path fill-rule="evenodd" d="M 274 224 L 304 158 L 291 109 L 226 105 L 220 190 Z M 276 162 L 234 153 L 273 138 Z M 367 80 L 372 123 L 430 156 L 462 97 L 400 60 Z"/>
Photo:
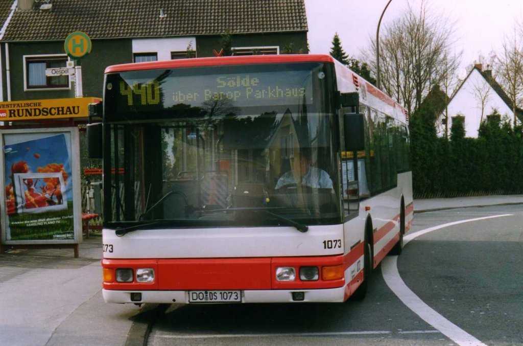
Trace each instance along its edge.
<path fill-rule="evenodd" d="M 51 0 L 16 10 L 2 41 L 63 40 L 307 31 L 304 0 Z M 12 1 L 0 0 L 4 23 Z M 164 18 L 160 17 L 163 10 Z"/>

